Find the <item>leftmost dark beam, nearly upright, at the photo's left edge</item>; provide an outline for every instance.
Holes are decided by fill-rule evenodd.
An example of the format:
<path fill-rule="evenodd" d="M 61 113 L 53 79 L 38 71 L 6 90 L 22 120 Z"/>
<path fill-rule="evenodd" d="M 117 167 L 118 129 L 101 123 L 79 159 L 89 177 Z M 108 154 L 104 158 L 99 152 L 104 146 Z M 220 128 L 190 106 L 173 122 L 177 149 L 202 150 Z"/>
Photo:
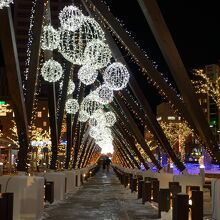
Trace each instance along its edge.
<path fill-rule="evenodd" d="M 17 169 L 19 171 L 26 171 L 27 153 L 30 142 L 17 46 L 10 8 L 4 8 L 0 12 L 0 43 L 3 51 L 8 88 L 13 103 L 15 121 L 18 130 L 20 149 L 18 152 Z"/>

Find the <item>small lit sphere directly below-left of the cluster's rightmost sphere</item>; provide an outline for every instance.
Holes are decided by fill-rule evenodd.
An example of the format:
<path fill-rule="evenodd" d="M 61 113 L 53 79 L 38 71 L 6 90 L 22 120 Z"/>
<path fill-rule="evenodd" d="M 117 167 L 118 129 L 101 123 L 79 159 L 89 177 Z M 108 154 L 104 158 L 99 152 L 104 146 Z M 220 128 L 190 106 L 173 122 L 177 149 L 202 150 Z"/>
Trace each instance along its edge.
<path fill-rule="evenodd" d="M 110 89 L 107 85 L 103 84 L 97 88 L 98 101 L 103 104 L 109 104 L 113 101 L 113 90 Z"/>

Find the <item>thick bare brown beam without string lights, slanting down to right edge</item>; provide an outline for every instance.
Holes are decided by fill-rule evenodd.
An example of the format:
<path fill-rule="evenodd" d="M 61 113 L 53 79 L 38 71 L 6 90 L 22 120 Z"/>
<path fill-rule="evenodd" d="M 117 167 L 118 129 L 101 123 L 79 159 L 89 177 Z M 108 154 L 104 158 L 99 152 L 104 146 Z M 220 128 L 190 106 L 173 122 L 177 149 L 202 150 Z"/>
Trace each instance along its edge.
<path fill-rule="evenodd" d="M 211 152 L 214 159 L 220 162 L 220 149 L 205 120 L 202 108 L 190 82 L 188 73 L 178 53 L 169 29 L 155 0 L 138 0 L 144 16 L 154 34 L 160 50 L 166 60 L 170 72 L 183 96 L 188 112 L 199 131 L 200 137 L 206 143 L 206 148 Z"/>

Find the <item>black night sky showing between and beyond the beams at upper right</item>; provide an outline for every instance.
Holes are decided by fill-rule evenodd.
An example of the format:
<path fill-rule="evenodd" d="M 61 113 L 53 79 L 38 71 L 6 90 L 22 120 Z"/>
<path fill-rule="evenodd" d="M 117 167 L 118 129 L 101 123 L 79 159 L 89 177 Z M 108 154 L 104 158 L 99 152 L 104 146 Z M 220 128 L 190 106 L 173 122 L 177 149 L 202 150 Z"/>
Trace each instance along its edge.
<path fill-rule="evenodd" d="M 172 85 L 175 84 L 151 33 L 137 0 L 106 0 L 111 12 L 131 32 L 135 41 L 151 60 L 158 64 Z M 120 4 L 119 4 L 120 2 Z M 125 4 L 126 2 L 126 4 Z M 176 47 L 188 72 L 192 68 L 218 63 L 220 59 L 220 7 L 219 1 L 158 0 Z M 136 75 L 145 95 L 154 105 L 162 99 L 146 80 Z"/>

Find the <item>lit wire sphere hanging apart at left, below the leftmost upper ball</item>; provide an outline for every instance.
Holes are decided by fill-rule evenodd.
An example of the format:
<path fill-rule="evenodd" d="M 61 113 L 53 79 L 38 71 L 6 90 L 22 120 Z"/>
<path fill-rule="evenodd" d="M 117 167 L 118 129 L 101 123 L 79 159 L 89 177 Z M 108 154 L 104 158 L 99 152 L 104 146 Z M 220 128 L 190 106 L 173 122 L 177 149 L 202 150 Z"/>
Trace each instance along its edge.
<path fill-rule="evenodd" d="M 41 68 L 41 75 L 43 76 L 45 81 L 56 82 L 62 77 L 63 68 L 60 63 L 53 59 L 50 59 L 43 64 Z"/>

